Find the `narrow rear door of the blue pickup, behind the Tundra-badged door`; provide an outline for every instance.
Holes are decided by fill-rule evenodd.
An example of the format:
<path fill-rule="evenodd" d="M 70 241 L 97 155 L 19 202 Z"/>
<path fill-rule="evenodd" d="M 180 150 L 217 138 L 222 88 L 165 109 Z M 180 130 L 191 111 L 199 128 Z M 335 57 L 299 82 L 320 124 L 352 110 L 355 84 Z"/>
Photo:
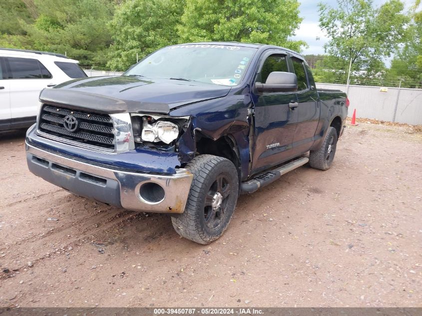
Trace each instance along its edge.
<path fill-rule="evenodd" d="M 314 135 L 320 118 L 320 107 L 314 79 L 309 78 L 310 72 L 306 71 L 307 64 L 301 58 L 291 57 L 293 70 L 298 77 L 298 91 L 296 93 L 299 106 L 295 112 L 298 116 L 293 150 L 295 155 L 307 152 L 314 143 Z"/>

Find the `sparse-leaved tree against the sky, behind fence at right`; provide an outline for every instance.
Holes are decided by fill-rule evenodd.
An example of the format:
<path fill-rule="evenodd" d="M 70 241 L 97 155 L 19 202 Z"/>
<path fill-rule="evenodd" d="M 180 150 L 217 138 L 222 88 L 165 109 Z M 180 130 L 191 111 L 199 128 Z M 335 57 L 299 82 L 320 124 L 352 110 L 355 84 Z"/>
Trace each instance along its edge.
<path fill-rule="evenodd" d="M 325 51 L 342 60 L 352 60 L 355 71 L 377 73 L 383 68 L 383 58 L 391 55 L 406 34 L 409 17 L 403 13 L 403 2 L 389 0 L 379 8 L 373 6 L 372 0 L 337 3 L 337 8 L 319 3 L 320 27 L 330 38 Z M 341 67 L 348 68 L 349 64 Z"/>

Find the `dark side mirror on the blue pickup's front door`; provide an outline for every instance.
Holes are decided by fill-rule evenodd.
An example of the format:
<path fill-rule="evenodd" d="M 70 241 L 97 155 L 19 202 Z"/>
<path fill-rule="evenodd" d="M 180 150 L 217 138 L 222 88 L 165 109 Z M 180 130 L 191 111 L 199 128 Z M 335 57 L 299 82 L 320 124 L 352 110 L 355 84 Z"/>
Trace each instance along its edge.
<path fill-rule="evenodd" d="M 291 92 L 298 90 L 298 78 L 292 72 L 273 71 L 265 83 L 256 82 L 258 92 Z"/>

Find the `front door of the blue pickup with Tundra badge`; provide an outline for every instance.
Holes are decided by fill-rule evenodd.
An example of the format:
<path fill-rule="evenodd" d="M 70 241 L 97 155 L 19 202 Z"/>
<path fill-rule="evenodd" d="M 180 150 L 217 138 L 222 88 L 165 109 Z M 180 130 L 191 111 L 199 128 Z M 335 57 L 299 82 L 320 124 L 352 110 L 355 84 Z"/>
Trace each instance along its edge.
<path fill-rule="evenodd" d="M 266 53 L 261 60 L 255 82 L 265 83 L 273 71 L 289 72 L 287 58 L 287 53 L 280 50 Z M 297 111 L 289 108 L 289 103 L 298 102 L 295 92 L 254 92 L 253 100 L 251 175 L 292 158 L 292 144 L 298 121 Z"/>

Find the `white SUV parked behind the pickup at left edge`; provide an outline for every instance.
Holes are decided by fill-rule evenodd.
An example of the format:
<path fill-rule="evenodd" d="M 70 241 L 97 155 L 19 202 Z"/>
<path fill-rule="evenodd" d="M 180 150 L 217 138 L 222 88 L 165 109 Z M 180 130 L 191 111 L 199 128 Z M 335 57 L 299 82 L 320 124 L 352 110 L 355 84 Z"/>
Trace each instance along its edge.
<path fill-rule="evenodd" d="M 0 48 L 0 131 L 35 123 L 42 89 L 86 77 L 77 63 L 61 54 Z"/>

